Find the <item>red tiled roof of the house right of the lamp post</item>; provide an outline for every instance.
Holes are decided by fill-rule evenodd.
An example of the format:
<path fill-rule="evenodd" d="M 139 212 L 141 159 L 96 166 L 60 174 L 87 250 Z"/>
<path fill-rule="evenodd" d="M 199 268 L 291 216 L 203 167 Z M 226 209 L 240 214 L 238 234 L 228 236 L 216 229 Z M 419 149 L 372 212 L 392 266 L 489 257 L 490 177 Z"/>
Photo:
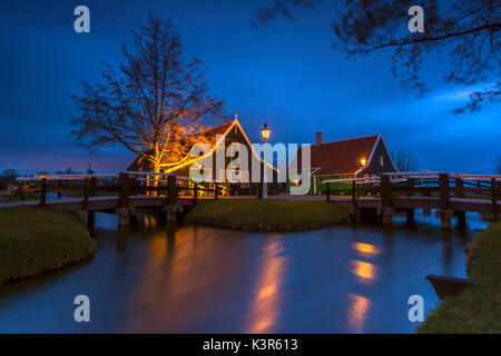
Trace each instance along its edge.
<path fill-rule="evenodd" d="M 369 156 L 377 141 L 379 135 L 352 138 L 341 141 L 332 141 L 311 146 L 312 170 L 322 167 L 315 175 L 354 174 L 362 168 L 361 160 L 369 161 Z M 298 149 L 296 159 L 301 169 L 302 148 Z"/>

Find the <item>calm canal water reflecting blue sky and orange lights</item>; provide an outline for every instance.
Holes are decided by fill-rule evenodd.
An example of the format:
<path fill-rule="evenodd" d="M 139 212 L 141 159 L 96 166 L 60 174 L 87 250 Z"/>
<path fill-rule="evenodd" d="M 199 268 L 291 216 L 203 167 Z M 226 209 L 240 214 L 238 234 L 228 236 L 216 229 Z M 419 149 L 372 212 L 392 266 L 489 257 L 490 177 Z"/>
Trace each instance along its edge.
<path fill-rule="evenodd" d="M 413 333 L 407 299 L 439 303 L 429 274 L 465 277 L 465 244 L 484 228 L 348 225 L 239 233 L 150 217 L 118 230 L 98 214 L 96 256 L 0 287 L 0 333 Z M 73 298 L 90 298 L 76 323 Z"/>

